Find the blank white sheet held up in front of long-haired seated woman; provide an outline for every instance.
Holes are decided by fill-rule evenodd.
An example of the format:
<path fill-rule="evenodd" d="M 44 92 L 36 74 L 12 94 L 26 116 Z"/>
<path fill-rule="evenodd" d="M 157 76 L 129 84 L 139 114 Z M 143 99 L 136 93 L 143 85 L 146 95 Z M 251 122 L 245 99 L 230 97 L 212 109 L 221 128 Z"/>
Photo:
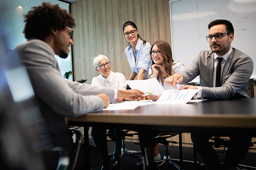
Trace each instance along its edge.
<path fill-rule="evenodd" d="M 127 84 L 130 86 L 131 89 L 139 89 L 144 93 L 152 92 L 152 94 L 162 94 L 164 89 L 159 84 L 156 78 L 153 79 L 144 79 L 144 80 L 126 80 Z"/>

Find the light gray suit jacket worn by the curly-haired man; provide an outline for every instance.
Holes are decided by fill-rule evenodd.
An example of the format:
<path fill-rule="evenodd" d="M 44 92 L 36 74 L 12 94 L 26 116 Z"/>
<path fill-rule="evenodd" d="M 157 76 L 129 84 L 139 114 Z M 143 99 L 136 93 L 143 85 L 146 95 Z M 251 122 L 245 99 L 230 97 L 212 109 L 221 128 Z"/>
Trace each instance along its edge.
<path fill-rule="evenodd" d="M 67 130 L 67 117 L 100 111 L 105 93 L 113 101 L 113 88 L 98 88 L 65 79 L 61 76 L 52 48 L 44 41 L 31 39 L 15 48 L 29 74 L 50 133 Z"/>

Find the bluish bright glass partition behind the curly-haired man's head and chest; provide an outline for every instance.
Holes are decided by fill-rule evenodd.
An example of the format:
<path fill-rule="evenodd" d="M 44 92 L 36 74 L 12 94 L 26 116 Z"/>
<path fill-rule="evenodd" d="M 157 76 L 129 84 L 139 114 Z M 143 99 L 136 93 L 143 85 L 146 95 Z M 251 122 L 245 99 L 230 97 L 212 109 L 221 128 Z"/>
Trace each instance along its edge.
<path fill-rule="evenodd" d="M 6 0 L 5 9 L 3 14 L 0 16 L 0 20 L 3 23 L 7 23 L 7 41 L 9 51 L 14 49 L 17 45 L 26 42 L 26 38 L 23 34 L 24 30 L 24 17 L 31 7 L 39 6 L 45 0 Z M 47 0 L 52 4 L 59 4 L 63 9 L 69 11 L 69 3 L 64 3 L 59 0 Z M 55 56 L 61 69 L 61 75 L 63 76 L 65 72 L 72 71 L 72 51 L 70 49 L 67 59 L 61 59 Z M 72 77 L 70 76 L 72 80 Z"/>

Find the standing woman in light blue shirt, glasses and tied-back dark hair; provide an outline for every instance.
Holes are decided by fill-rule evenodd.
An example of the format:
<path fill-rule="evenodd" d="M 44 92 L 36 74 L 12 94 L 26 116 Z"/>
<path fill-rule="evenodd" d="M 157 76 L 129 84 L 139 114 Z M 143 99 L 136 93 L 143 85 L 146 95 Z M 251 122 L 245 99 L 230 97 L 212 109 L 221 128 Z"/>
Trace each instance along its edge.
<path fill-rule="evenodd" d="M 138 28 L 132 21 L 127 21 L 123 25 L 125 38 L 130 45 L 125 49 L 125 55 L 131 67 L 131 75 L 128 80 L 148 79 L 148 70 L 151 65 L 149 51 L 151 45 L 145 40 L 141 40 Z"/>

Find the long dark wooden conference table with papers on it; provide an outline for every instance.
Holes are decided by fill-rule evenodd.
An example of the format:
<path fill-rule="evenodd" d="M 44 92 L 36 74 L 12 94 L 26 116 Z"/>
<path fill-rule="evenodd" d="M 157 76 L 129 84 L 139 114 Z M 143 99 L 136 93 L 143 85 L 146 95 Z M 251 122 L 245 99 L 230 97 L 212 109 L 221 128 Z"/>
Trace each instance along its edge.
<path fill-rule="evenodd" d="M 207 100 L 187 104 L 152 104 L 134 110 L 88 113 L 68 119 L 69 125 L 106 125 L 123 129 L 175 132 L 251 132 L 256 130 L 256 97 Z M 84 130 L 86 137 L 88 128 Z M 85 144 L 88 139 L 85 138 Z"/>

